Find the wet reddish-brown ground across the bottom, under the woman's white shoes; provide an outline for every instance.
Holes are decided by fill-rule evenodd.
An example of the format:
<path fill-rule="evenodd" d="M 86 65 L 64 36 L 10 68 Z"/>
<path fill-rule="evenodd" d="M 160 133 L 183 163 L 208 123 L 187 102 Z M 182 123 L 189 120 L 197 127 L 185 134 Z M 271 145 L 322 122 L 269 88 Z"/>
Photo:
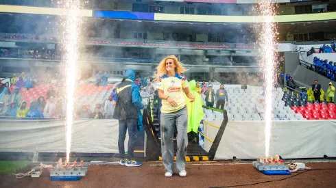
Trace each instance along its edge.
<path fill-rule="evenodd" d="M 252 163 L 195 162 L 187 163 L 187 177 L 178 173 L 165 178 L 160 162 L 143 163 L 141 167 L 121 165 L 89 165 L 88 174 L 77 181 L 51 181 L 47 170 L 40 178 L 15 178 L 2 176 L 0 187 L 226 187 L 261 183 L 242 187 L 336 187 L 336 162 L 306 163 L 312 170 L 296 176 L 266 176 L 256 170 Z M 317 170 L 334 168 L 335 170 Z M 290 178 L 288 178 L 290 177 Z M 280 180 L 287 178 L 285 180 Z M 278 180 L 278 181 L 277 181 Z M 280 180 L 280 181 L 279 181 Z"/>

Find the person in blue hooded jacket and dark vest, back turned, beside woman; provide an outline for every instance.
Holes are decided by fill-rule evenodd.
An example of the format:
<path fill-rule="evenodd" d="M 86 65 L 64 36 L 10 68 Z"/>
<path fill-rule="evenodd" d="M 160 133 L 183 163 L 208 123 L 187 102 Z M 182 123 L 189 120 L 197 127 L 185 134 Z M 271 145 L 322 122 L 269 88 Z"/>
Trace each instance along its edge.
<path fill-rule="evenodd" d="M 134 145 L 136 142 L 136 132 L 138 126 L 142 126 L 141 96 L 139 86 L 134 83 L 135 72 L 132 69 L 126 70 L 123 81 L 117 86 L 117 104 L 113 118 L 119 120 L 119 140 L 118 148 L 120 155 L 120 165 L 140 166 L 140 162 L 136 162 L 134 157 Z M 128 131 L 128 154 L 125 156 L 125 137 Z"/>

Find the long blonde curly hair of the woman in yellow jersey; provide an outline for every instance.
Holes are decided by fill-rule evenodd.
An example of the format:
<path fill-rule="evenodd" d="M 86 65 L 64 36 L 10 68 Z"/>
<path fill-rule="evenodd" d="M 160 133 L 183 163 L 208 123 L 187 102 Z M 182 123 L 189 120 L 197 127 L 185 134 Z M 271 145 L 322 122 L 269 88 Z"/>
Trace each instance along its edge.
<path fill-rule="evenodd" d="M 175 72 L 178 73 L 178 75 L 181 75 L 181 73 L 187 72 L 187 68 L 183 66 L 181 62 L 178 62 L 178 58 L 175 55 L 168 55 L 162 61 L 158 66 L 156 67 L 156 72 L 155 72 L 155 82 L 158 82 L 160 79 L 160 76 L 166 75 L 167 70 L 166 70 L 166 61 L 167 59 L 172 59 L 174 64 L 175 64 Z"/>

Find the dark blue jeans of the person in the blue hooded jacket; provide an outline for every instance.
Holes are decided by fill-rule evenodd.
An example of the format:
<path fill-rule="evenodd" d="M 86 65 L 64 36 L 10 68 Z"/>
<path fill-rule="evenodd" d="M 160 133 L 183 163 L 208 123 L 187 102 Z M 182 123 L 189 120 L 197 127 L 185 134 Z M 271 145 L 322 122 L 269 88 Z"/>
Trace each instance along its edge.
<path fill-rule="evenodd" d="M 119 120 L 118 148 L 121 159 L 134 157 L 136 133 L 138 132 L 138 119 Z M 128 130 L 128 154 L 125 156 L 125 138 Z"/>

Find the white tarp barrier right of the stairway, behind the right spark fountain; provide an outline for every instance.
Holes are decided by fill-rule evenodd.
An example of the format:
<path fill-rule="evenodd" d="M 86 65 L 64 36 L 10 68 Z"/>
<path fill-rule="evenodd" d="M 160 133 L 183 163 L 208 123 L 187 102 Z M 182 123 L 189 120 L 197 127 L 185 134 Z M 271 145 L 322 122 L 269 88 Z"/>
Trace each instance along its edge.
<path fill-rule="evenodd" d="M 219 126 L 217 121 L 211 124 Z M 213 126 L 204 123 L 205 135 L 217 133 Z M 256 159 L 265 157 L 265 122 L 228 122 L 215 159 Z M 287 159 L 336 157 L 336 122 L 329 120 L 274 121 L 271 129 L 269 155 L 280 155 Z M 206 132 L 208 131 L 208 133 Z M 215 139 L 215 137 L 211 137 Z M 211 143 L 206 141 L 206 150 Z"/>

